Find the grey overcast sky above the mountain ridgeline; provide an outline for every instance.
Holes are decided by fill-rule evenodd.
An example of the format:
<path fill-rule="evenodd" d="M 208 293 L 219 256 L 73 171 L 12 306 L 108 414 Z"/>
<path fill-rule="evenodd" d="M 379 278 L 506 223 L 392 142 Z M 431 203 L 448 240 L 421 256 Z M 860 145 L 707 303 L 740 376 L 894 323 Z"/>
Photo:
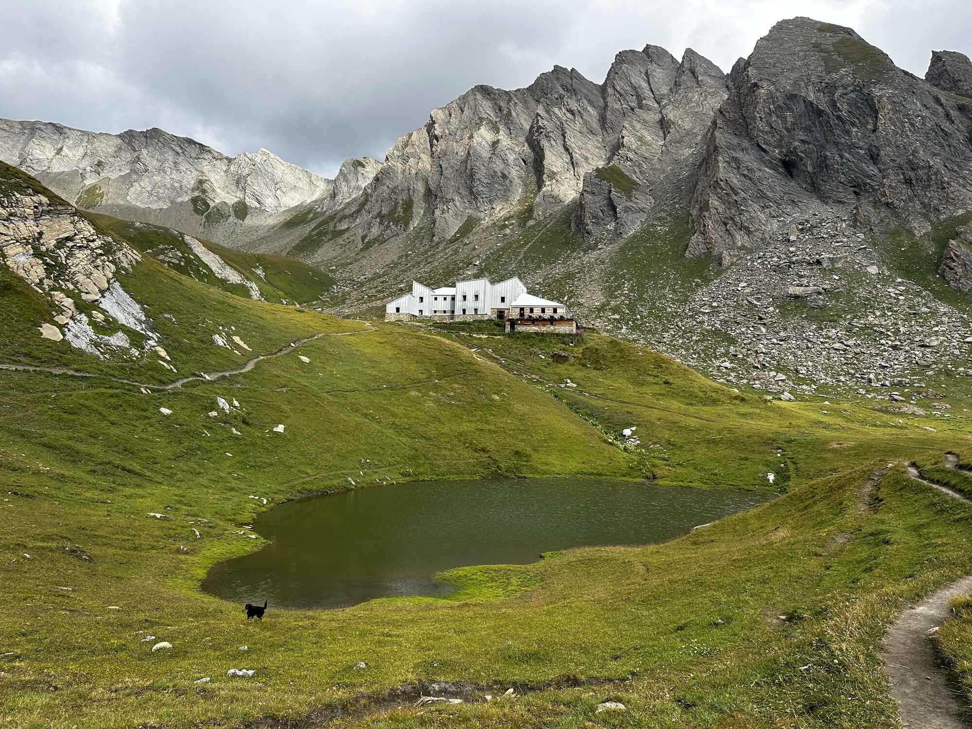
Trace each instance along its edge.
<path fill-rule="evenodd" d="M 912 73 L 972 55 L 972 0 L 0 0 L 0 117 L 159 126 L 331 176 L 469 87 L 686 47 L 728 70 L 783 17 L 850 25 Z"/>

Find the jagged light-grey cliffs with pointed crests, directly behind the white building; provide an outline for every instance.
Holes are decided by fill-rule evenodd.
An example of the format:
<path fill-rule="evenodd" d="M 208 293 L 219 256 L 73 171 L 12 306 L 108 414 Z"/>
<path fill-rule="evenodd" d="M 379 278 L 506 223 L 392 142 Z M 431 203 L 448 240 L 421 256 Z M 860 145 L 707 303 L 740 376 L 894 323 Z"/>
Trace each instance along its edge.
<path fill-rule="evenodd" d="M 399 139 L 341 226 L 366 242 L 427 224 L 442 240 L 518 209 L 540 221 L 577 200 L 581 235 L 630 232 L 727 94 L 712 62 L 656 46 L 618 53 L 601 85 L 555 66 L 526 88 L 473 87 Z"/>

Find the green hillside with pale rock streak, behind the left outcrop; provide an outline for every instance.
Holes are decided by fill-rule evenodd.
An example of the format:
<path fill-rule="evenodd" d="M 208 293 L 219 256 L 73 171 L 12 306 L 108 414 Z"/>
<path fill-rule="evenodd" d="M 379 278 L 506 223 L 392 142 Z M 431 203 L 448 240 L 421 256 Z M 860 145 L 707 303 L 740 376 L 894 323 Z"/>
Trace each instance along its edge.
<path fill-rule="evenodd" d="M 329 273 L 300 260 L 245 253 L 206 239 L 191 240 L 163 226 L 97 213 L 87 213 L 87 217 L 168 267 L 231 294 L 275 303 L 305 303 L 327 294 L 335 283 Z M 206 260 L 201 259 L 193 246 L 196 250 L 201 246 L 212 256 L 203 252 Z"/>

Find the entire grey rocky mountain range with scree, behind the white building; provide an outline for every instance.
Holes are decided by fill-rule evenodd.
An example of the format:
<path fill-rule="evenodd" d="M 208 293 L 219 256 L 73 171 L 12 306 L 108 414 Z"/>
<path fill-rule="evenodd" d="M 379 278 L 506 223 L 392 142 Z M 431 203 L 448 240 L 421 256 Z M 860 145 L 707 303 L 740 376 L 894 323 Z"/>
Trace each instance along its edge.
<path fill-rule="evenodd" d="M 334 180 L 47 122 L 0 121 L 0 159 L 79 208 L 327 269 L 332 312 L 519 275 L 726 382 L 871 392 L 969 364 L 969 94 L 961 53 L 920 79 L 797 17 L 728 74 L 649 45 L 601 84 L 473 87 Z"/>

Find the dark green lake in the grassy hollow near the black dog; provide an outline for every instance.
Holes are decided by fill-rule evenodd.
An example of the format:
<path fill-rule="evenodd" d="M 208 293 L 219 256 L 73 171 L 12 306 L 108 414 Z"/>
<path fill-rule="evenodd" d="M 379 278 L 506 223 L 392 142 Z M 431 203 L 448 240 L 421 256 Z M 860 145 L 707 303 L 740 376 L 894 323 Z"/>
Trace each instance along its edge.
<path fill-rule="evenodd" d="M 202 582 L 238 603 L 341 608 L 444 595 L 434 574 L 525 564 L 576 546 L 645 544 L 770 496 L 582 479 L 432 481 L 284 503 L 254 522 L 270 544 L 214 565 Z"/>

